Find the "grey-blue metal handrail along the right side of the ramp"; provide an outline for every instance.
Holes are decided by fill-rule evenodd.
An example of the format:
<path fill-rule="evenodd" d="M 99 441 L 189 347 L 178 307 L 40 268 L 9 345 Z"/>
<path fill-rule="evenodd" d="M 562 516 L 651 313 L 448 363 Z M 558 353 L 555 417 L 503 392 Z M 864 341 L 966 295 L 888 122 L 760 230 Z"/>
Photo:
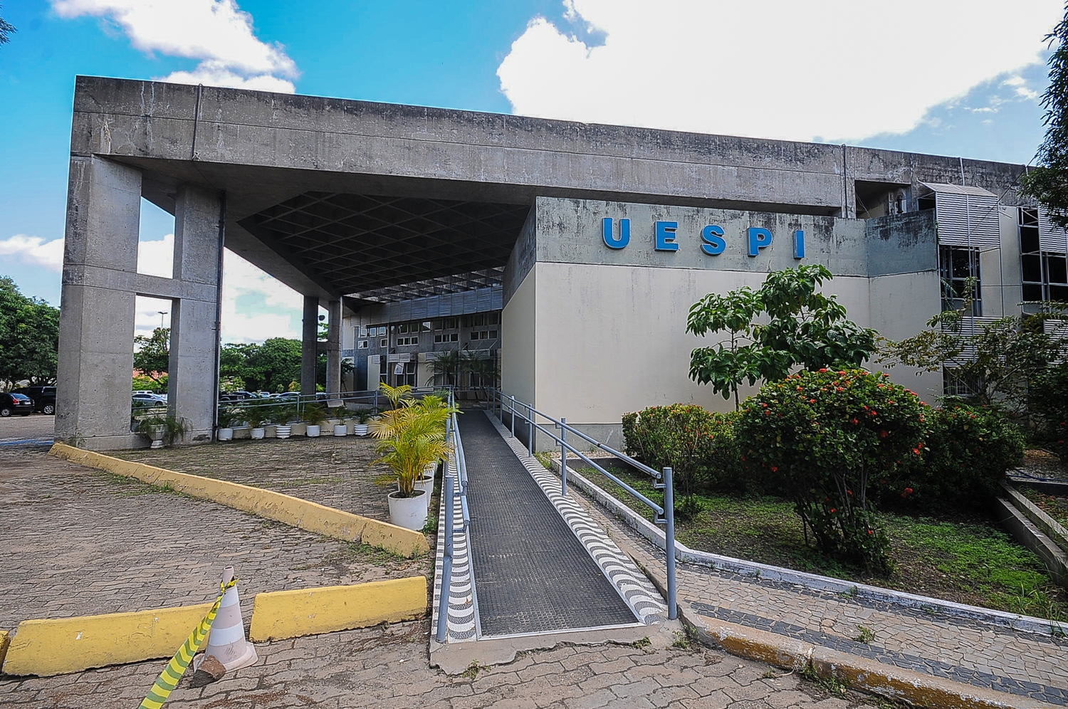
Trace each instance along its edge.
<path fill-rule="evenodd" d="M 567 453 L 570 451 L 584 462 L 588 463 L 599 473 L 608 477 L 610 480 L 618 485 L 621 488 L 627 491 L 631 497 L 639 500 L 642 504 L 649 507 L 654 511 L 654 522 L 657 524 L 664 525 L 664 552 L 666 555 L 665 566 L 668 571 L 668 617 L 672 620 L 678 617 L 678 605 L 676 603 L 676 584 L 675 584 L 675 490 L 672 482 L 672 469 L 664 468 L 663 471 L 657 471 L 649 468 L 645 463 L 634 460 L 625 453 L 621 453 L 615 448 L 604 445 L 600 441 L 583 434 L 581 430 L 569 426 L 567 424 L 567 419 L 561 416 L 559 420 L 553 419 L 544 411 L 538 411 L 530 404 L 524 401 L 519 401 L 515 396 L 505 396 L 503 392 L 497 389 L 489 390 L 492 392 L 494 397 L 494 403 L 498 405 L 498 414 L 501 421 L 501 425 L 504 425 L 504 411 L 507 408 L 509 416 L 508 423 L 511 425 L 512 437 L 516 436 L 516 417 L 518 416 L 522 421 L 527 422 L 527 452 L 531 456 L 534 455 L 534 430 L 537 429 L 548 435 L 552 440 L 560 444 L 560 493 L 561 495 L 567 495 Z M 519 409 L 516 407 L 522 407 L 527 410 L 527 414 L 520 413 Z M 553 428 L 560 429 L 560 436 L 553 430 L 541 426 L 535 416 L 540 416 L 547 421 L 552 422 Z M 574 445 L 567 442 L 567 435 L 575 434 L 584 441 L 591 443 L 597 448 L 611 454 L 613 457 L 629 463 L 633 468 L 650 475 L 656 483 L 653 487 L 658 490 L 663 490 L 664 492 L 664 504 L 658 505 L 657 503 L 649 500 L 647 497 L 632 488 L 630 485 L 624 483 L 618 477 L 607 471 L 604 468 L 599 466 L 597 462 L 592 460 L 584 453 L 576 448 Z"/>

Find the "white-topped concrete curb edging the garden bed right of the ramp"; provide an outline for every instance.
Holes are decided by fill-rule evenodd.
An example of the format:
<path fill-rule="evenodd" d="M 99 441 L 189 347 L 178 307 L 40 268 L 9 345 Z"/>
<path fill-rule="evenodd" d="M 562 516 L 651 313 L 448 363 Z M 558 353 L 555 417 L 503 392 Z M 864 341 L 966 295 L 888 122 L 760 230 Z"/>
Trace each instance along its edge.
<path fill-rule="evenodd" d="M 559 474 L 560 461 L 553 460 L 552 463 L 553 469 Z M 617 519 L 622 520 L 628 526 L 651 541 L 658 549 L 663 550 L 666 547 L 664 533 L 659 527 L 655 526 L 647 519 L 641 517 L 614 497 L 594 485 L 582 474 L 569 468 L 567 472 L 567 479 L 569 484 L 574 483 L 577 485 L 583 492 L 594 498 L 594 500 L 596 500 L 602 507 L 606 507 L 610 514 L 614 515 Z M 977 620 L 979 623 L 986 623 L 999 628 L 1011 628 L 1012 630 L 1036 633 L 1039 635 L 1051 635 L 1053 632 L 1050 621 L 1042 618 L 1034 618 L 1026 615 L 1018 615 L 1016 613 L 1005 613 L 1003 611 L 993 611 L 991 609 L 979 608 L 977 605 L 954 603 L 952 601 L 942 600 L 941 598 L 917 596 L 915 594 L 907 594 L 899 590 L 892 590 L 890 588 L 880 588 L 879 586 L 869 586 L 863 583 L 853 583 L 850 581 L 843 581 L 842 579 L 832 579 L 830 577 L 818 576 L 816 573 L 806 573 L 804 571 L 795 571 L 794 569 L 786 569 L 779 566 L 748 562 L 745 560 L 734 558 L 732 556 L 721 556 L 720 554 L 712 554 L 709 552 L 690 549 L 678 540 L 675 541 L 675 558 L 679 562 L 696 564 L 698 566 L 710 566 L 713 569 L 728 571 L 732 573 L 759 577 L 761 579 L 769 579 L 772 581 L 782 581 L 784 583 L 797 584 L 806 588 L 827 590 L 835 594 L 848 594 L 858 598 L 864 598 L 866 600 L 883 603 L 892 603 L 902 608 L 920 609 L 928 612 L 937 610 L 951 617 Z M 662 588 L 661 592 L 663 592 Z"/>

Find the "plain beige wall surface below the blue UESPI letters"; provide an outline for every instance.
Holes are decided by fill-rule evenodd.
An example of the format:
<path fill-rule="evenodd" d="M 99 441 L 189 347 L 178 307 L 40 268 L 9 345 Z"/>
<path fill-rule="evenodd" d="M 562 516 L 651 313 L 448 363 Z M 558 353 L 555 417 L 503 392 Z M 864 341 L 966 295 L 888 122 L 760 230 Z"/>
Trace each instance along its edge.
<path fill-rule="evenodd" d="M 617 424 L 626 411 L 677 401 L 731 410 L 733 401 L 689 378 L 690 351 L 716 341 L 687 334 L 686 317 L 705 294 L 759 288 L 765 278 L 537 263 L 505 308 L 503 389 L 569 423 Z M 914 334 L 939 302 L 933 272 L 837 277 L 824 290 L 838 294 L 850 319 L 894 337 Z M 878 302 L 879 322 L 871 322 L 871 302 Z M 893 376 L 916 391 L 929 383 L 926 376 L 917 382 L 911 371 L 898 368 Z M 740 395 L 751 393 L 743 388 Z"/>

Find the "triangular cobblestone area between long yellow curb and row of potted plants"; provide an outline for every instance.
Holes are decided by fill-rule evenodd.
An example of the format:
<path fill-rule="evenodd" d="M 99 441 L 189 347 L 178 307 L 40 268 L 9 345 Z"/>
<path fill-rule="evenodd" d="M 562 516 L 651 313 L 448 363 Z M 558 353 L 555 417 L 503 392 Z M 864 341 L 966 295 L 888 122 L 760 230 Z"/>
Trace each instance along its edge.
<path fill-rule="evenodd" d="M 386 495 L 391 486 L 375 484 L 375 478 L 388 471 L 384 466 L 371 464 L 378 457 L 375 441 L 371 438 L 294 436 L 287 439 L 186 445 L 162 451 L 119 451 L 109 455 L 179 473 L 276 490 L 355 515 L 389 521 Z"/>

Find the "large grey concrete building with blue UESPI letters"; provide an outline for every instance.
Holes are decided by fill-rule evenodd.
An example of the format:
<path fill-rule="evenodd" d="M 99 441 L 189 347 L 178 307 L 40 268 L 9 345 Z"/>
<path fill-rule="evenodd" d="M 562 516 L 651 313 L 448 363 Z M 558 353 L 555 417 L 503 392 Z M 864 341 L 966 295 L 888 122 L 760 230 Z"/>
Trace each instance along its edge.
<path fill-rule="evenodd" d="M 350 387 L 424 384 L 435 349 L 466 345 L 499 354 L 506 393 L 610 438 L 625 411 L 722 408 L 687 376 L 709 343 L 684 332 L 686 313 L 772 270 L 827 265 L 850 318 L 892 338 L 940 309 L 942 277 L 979 277 L 979 317 L 1064 298 L 1065 232 L 1021 200 L 1023 170 L 79 77 L 57 437 L 137 444 L 128 380 L 145 295 L 173 301 L 170 407 L 187 440 L 211 439 L 223 248 L 304 295 L 308 392 L 321 304 L 332 391 L 343 354 Z M 137 273 L 142 196 L 175 216 L 172 279 Z M 944 387 L 894 377 L 927 398 Z"/>

